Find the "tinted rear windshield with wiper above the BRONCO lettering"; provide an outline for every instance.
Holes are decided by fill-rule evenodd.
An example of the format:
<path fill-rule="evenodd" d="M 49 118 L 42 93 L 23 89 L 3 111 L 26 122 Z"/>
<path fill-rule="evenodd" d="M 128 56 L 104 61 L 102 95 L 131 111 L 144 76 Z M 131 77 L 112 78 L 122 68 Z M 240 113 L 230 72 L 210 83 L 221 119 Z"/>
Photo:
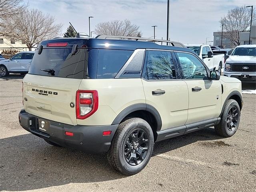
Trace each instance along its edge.
<path fill-rule="evenodd" d="M 34 54 L 29 74 L 57 76 L 65 78 L 84 78 L 86 49 L 78 48 L 75 55 L 72 48 L 48 48 L 41 54 Z"/>

